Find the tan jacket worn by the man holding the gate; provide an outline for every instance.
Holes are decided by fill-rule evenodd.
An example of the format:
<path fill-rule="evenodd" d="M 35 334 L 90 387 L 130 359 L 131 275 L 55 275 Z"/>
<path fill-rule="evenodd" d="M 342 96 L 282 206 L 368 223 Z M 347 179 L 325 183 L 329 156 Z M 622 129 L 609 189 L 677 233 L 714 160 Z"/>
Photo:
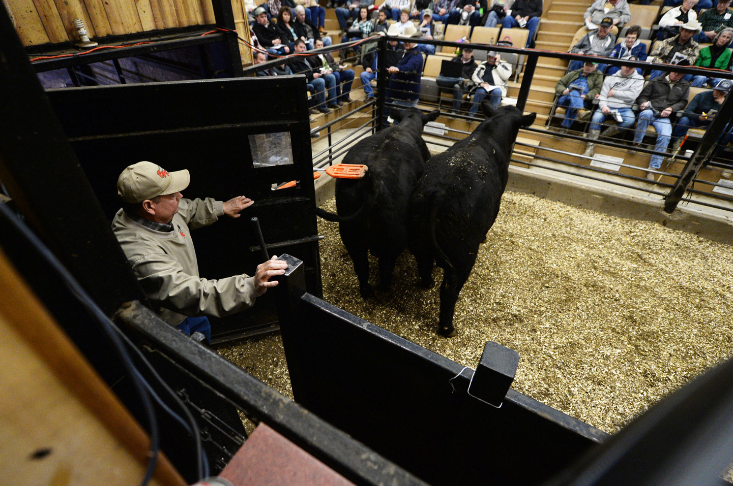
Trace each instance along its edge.
<path fill-rule="evenodd" d="M 224 203 L 181 199 L 174 231 L 162 232 L 136 223 L 120 209 L 112 231 L 133 272 L 163 321 L 177 326 L 188 316 L 221 317 L 250 307 L 257 298 L 254 277 L 246 274 L 207 280 L 199 277 L 191 229 L 210 225 L 224 214 Z"/>

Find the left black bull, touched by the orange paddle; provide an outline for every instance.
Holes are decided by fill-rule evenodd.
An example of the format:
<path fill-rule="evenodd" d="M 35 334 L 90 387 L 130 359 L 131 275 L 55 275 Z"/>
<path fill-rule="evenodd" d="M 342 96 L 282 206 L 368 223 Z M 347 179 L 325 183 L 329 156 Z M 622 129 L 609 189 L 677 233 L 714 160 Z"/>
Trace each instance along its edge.
<path fill-rule="evenodd" d="M 430 151 L 421 134 L 424 125 L 440 111 L 424 114 L 417 108 L 393 110 L 399 124 L 364 138 L 344 157 L 346 164 L 364 164 L 362 179 L 336 179 L 336 214 L 317 209 L 328 221 L 339 222 L 339 233 L 365 299 L 374 293 L 369 285 L 367 253 L 379 258 L 380 288 L 391 287 L 397 257 L 409 241 L 409 206 L 415 184 Z"/>

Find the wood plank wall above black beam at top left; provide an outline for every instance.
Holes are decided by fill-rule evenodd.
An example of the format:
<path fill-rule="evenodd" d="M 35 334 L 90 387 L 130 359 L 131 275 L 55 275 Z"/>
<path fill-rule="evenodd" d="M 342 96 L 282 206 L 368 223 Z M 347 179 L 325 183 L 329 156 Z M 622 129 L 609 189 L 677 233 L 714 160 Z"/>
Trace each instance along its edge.
<path fill-rule="evenodd" d="M 23 45 L 78 41 L 74 19 L 92 39 L 216 23 L 211 0 L 3 0 Z M 240 0 L 233 2 L 235 5 Z"/>

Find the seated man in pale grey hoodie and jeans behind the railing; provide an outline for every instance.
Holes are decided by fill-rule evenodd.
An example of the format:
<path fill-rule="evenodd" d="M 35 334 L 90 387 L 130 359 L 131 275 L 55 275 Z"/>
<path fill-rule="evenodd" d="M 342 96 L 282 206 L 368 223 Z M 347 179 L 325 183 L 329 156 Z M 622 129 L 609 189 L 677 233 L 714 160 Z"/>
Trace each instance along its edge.
<path fill-rule="evenodd" d="M 632 61 L 636 61 L 633 57 Z M 611 137 L 616 133 L 627 129 L 634 124 L 636 115 L 634 115 L 633 107 L 636 98 L 641 94 L 644 88 L 644 78 L 636 72 L 633 67 L 622 66 L 619 72 L 614 75 L 606 76 L 603 80 L 603 87 L 600 89 L 598 97 L 598 110 L 593 113 L 591 126 L 588 131 L 588 145 L 586 157 L 593 156 L 593 147 L 595 141 L 600 135 L 601 125 L 605 120 L 611 118 L 616 120 L 615 125 L 606 128 L 603 131 L 604 137 Z"/>

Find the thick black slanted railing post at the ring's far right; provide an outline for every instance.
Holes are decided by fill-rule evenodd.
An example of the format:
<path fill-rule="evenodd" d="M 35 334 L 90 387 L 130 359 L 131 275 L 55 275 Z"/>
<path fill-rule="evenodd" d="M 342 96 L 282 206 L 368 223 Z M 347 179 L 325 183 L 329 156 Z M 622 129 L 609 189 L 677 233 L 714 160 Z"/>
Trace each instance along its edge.
<path fill-rule="evenodd" d="M 679 174 L 679 179 L 674 183 L 674 187 L 668 192 L 664 198 L 664 211 L 671 213 L 677 208 L 679 201 L 682 201 L 682 196 L 690 187 L 697 174 L 699 173 L 702 166 L 710 160 L 712 152 L 715 150 L 715 145 L 723 135 L 726 125 L 731 121 L 731 115 L 733 113 L 733 95 L 729 94 L 726 100 L 723 102 L 720 110 L 718 110 L 718 116 L 712 120 L 710 127 L 705 130 L 705 135 L 702 136 L 702 140 L 697 146 L 697 150 L 690 157 L 685 168 L 682 169 L 682 173 Z M 725 113 L 725 114 L 723 114 Z"/>

